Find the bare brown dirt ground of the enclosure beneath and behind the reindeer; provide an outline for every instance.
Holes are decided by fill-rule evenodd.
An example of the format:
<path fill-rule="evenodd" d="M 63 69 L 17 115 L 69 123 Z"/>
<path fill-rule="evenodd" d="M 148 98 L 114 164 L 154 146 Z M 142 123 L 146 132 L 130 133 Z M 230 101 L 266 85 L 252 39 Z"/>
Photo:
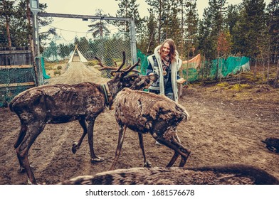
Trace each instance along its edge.
<path fill-rule="evenodd" d="M 76 64 L 65 70 L 53 83 L 103 83 L 98 71 Z M 263 168 L 279 178 L 279 154 L 268 151 L 260 140 L 279 138 L 279 91 L 268 86 L 246 90 L 229 87 L 191 86 L 184 88 L 179 103 L 186 107 L 191 119 L 181 123 L 181 143 L 191 150 L 186 166 L 224 163 L 245 163 Z M 14 143 L 20 123 L 8 108 L 0 108 L 0 184 L 26 184 L 26 174 L 18 173 L 19 163 Z M 95 123 L 95 151 L 105 158 L 90 163 L 88 140 L 85 137 L 76 154 L 71 146 L 78 141 L 82 129 L 78 122 L 48 124 L 29 151 L 29 161 L 38 183 L 56 184 L 64 179 L 107 171 L 115 156 L 117 124 L 114 112 L 100 114 Z M 144 135 L 147 158 L 152 166 L 166 166 L 173 151 L 157 146 L 149 134 Z M 175 164 L 178 166 L 179 161 Z M 127 130 L 117 168 L 141 167 L 142 152 L 137 134 Z"/>

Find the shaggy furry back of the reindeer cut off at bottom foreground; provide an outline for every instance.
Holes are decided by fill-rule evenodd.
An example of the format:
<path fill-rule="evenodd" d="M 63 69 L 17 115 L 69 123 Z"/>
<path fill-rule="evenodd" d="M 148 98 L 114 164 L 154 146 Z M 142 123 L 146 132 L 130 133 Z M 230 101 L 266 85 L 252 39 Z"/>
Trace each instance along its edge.
<path fill-rule="evenodd" d="M 279 185 L 266 171 L 240 164 L 197 168 L 129 168 L 78 176 L 63 185 Z"/>

